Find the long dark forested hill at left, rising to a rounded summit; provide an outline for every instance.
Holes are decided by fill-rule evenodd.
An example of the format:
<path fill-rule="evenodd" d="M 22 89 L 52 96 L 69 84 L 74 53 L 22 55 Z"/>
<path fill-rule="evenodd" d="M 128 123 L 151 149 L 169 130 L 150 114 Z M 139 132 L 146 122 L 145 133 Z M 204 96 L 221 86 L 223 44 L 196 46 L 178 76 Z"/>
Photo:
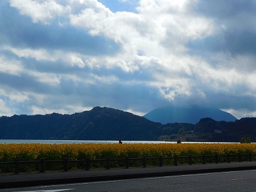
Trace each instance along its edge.
<path fill-rule="evenodd" d="M 161 124 L 112 108 L 72 115 L 13 115 L 0 118 L 0 139 L 157 140 Z"/>

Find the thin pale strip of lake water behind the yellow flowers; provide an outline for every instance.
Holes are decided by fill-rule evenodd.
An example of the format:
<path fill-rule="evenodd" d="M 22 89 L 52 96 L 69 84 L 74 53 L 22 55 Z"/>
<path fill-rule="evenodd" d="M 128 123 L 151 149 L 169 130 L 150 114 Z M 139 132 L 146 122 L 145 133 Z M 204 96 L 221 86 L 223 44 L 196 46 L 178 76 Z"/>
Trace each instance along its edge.
<path fill-rule="evenodd" d="M 123 143 L 177 143 L 176 141 L 122 141 Z M 118 141 L 93 141 L 93 140 L 0 140 L 0 143 L 45 143 L 45 144 L 63 144 L 63 143 L 118 143 Z M 204 142 L 182 142 L 182 143 L 204 143 Z M 209 143 L 209 142 L 205 142 Z M 212 142 L 214 143 L 214 142 Z M 216 142 L 217 143 L 217 142 Z M 218 142 L 223 143 L 223 142 Z"/>

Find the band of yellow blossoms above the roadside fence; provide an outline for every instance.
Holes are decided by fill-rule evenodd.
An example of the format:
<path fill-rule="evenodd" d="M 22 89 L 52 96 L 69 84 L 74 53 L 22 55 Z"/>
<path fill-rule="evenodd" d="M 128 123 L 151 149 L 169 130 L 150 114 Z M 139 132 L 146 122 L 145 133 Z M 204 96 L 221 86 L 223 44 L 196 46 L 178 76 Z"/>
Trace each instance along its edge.
<path fill-rule="evenodd" d="M 191 155 L 256 153 L 256 143 L 182 143 L 182 144 L 0 144 L 0 162 L 68 159 L 104 159 L 129 157 L 172 157 Z"/>

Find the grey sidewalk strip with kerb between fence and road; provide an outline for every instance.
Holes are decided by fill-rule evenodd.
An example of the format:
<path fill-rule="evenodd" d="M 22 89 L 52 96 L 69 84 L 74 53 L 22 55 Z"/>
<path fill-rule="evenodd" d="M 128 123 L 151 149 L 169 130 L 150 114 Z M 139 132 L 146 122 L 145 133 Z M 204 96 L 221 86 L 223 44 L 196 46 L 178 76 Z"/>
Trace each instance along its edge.
<path fill-rule="evenodd" d="M 256 161 L 244 161 L 241 163 L 219 163 L 219 164 L 193 164 L 179 166 L 111 169 L 111 170 L 90 170 L 90 171 L 68 171 L 68 172 L 45 172 L 45 173 L 19 173 L 19 174 L 0 174 L 0 189 L 22 188 L 32 186 L 51 186 L 60 184 L 77 183 L 115 183 L 116 180 L 141 179 L 151 177 L 171 177 L 178 175 L 193 175 L 218 172 L 234 172 L 241 170 L 256 170 Z M 252 172 L 255 173 L 255 172 Z M 204 178 L 203 178 L 204 179 Z M 152 179 L 153 180 L 153 179 Z M 116 182 L 117 184 L 118 182 Z M 136 186 L 136 182 L 131 184 Z M 90 186 L 88 184 L 88 186 Z M 19 190 L 13 189 L 13 191 Z M 70 188 L 73 189 L 73 188 Z M 79 191 L 79 188 L 74 188 Z M 129 188 L 122 189 L 129 191 Z M 152 187 L 152 189 L 154 189 Z M 84 190 L 84 189 L 83 189 Z M 87 189 L 86 189 L 87 190 Z M 109 189 L 111 191 L 113 189 Z M 132 189 L 131 189 L 132 190 Z M 162 189 L 164 190 L 164 189 Z M 34 190 L 36 191 L 36 190 Z M 42 190 L 41 190 L 42 191 Z M 108 190 L 105 190 L 108 191 Z M 256 189 L 254 190 L 256 191 Z M 51 192 L 51 191 L 48 191 Z"/>

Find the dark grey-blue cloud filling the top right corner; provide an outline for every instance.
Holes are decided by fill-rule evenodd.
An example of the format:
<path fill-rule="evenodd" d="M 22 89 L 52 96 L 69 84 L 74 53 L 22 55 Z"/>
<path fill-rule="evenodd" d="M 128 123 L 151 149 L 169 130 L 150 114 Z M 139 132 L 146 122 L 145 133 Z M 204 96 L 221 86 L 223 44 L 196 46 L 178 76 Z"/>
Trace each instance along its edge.
<path fill-rule="evenodd" d="M 216 33 L 199 40 L 190 40 L 190 52 L 204 55 L 207 52 L 231 54 L 256 53 L 256 1 L 199 1 L 196 13 L 214 19 Z"/>

